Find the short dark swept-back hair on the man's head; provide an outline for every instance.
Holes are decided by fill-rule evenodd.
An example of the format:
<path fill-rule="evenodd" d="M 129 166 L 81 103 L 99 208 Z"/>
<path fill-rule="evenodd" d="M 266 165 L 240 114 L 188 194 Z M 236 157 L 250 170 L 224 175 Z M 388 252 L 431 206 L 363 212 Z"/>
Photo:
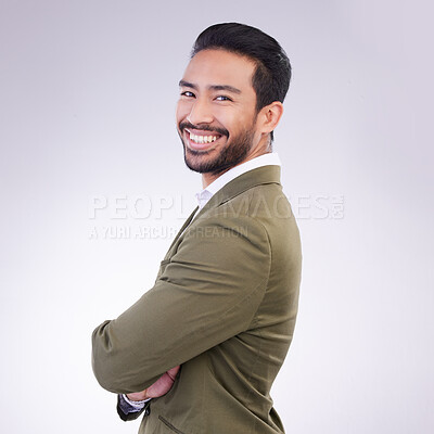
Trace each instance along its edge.
<path fill-rule="evenodd" d="M 283 102 L 290 87 L 291 63 L 275 38 L 245 24 L 221 23 L 199 35 L 191 58 L 207 49 L 227 50 L 245 55 L 256 63 L 252 78 L 256 92 L 256 112 L 273 101 Z"/>

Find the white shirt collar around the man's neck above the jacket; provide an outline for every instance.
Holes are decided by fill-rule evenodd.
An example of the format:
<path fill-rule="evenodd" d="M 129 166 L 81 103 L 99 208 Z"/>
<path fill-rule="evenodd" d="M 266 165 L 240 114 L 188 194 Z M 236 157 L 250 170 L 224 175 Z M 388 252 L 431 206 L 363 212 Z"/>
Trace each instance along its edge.
<path fill-rule="evenodd" d="M 196 193 L 196 200 L 199 204 L 199 209 L 202 209 L 206 203 L 216 194 L 220 189 L 222 189 L 228 182 L 232 181 L 240 175 L 246 171 L 256 169 L 263 166 L 280 166 L 280 158 L 277 153 L 263 154 L 255 158 L 248 159 L 248 162 L 242 163 L 235 167 L 232 167 L 228 171 L 225 171 L 215 181 L 213 181 L 208 187 L 206 187 L 201 192 Z"/>

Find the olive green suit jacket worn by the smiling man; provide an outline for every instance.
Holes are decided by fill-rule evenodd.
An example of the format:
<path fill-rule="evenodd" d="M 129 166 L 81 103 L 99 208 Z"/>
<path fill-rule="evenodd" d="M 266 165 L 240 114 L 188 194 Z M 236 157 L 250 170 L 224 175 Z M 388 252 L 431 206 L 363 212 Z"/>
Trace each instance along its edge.
<path fill-rule="evenodd" d="M 269 392 L 294 331 L 302 254 L 280 167 L 239 176 L 193 215 L 154 286 L 94 330 L 94 374 L 131 393 L 181 365 L 140 433 L 282 433 Z"/>

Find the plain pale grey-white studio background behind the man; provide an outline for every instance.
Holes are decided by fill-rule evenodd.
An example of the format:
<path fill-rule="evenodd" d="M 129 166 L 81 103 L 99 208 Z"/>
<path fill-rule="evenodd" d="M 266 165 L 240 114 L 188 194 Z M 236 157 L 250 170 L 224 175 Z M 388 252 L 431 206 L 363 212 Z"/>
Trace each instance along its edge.
<path fill-rule="evenodd" d="M 194 206 L 177 84 L 199 33 L 237 21 L 276 37 L 293 65 L 275 146 L 304 255 L 272 391 L 286 432 L 432 433 L 431 12 L 373 0 L 1 0 L 0 431 L 137 432 L 93 378 L 90 335 L 152 286 L 170 237 L 101 231 L 174 230 Z M 91 218 L 95 197 L 107 204 Z M 141 220 L 140 197 L 151 204 Z"/>

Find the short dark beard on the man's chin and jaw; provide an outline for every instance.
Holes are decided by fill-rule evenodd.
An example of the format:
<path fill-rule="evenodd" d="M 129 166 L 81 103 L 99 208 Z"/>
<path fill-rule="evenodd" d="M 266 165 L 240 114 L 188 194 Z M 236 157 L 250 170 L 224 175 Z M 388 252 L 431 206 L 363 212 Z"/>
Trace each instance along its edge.
<path fill-rule="evenodd" d="M 252 148 L 254 133 L 252 125 L 252 128 L 246 129 L 238 137 L 228 140 L 227 146 L 221 150 L 214 159 L 208 161 L 202 161 L 201 158 L 202 155 L 208 155 L 208 152 L 194 151 L 187 148 L 183 143 L 182 135 L 180 135 L 183 144 L 183 159 L 186 165 L 189 169 L 199 171 L 200 174 L 212 174 L 214 176 L 220 175 L 245 159 Z"/>

